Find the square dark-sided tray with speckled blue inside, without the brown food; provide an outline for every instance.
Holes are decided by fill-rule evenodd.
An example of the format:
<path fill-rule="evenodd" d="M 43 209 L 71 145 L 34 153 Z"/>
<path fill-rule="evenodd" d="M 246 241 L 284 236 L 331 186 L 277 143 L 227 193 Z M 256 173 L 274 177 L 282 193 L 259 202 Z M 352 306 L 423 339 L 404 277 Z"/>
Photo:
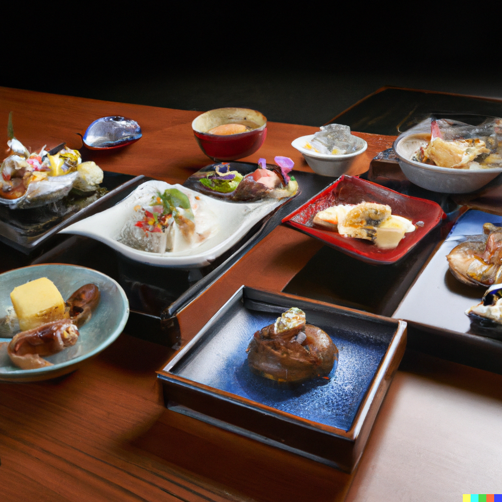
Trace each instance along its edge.
<path fill-rule="evenodd" d="M 339 350 L 328 380 L 250 372 L 255 331 L 299 307 Z M 406 346 L 406 323 L 242 286 L 158 373 L 168 408 L 351 472 Z"/>

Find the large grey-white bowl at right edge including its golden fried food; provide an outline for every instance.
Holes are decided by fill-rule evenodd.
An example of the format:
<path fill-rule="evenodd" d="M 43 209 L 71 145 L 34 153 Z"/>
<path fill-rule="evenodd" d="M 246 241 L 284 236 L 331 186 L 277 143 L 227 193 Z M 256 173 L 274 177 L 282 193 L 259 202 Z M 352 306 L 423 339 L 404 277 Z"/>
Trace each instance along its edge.
<path fill-rule="evenodd" d="M 480 189 L 502 173 L 497 120 L 476 127 L 446 119 L 421 122 L 394 142 L 401 170 L 412 183 L 433 192 Z"/>

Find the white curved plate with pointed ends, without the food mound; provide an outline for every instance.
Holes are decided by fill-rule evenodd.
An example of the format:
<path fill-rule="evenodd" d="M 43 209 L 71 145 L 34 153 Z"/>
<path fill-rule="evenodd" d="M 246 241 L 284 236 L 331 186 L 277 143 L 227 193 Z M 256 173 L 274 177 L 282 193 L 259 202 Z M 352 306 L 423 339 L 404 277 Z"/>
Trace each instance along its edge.
<path fill-rule="evenodd" d="M 177 188 L 184 193 L 190 192 L 199 197 L 217 215 L 218 231 L 198 247 L 177 253 L 167 252 L 163 255 L 141 251 L 118 242 L 117 238 L 120 230 L 136 205 L 135 192 L 146 185 L 153 186 L 159 191 L 164 191 L 167 188 Z M 182 185 L 170 185 L 165 181 L 158 180 L 147 181 L 136 190 L 115 206 L 80 220 L 64 228 L 60 233 L 73 233 L 92 237 L 104 242 L 132 260 L 149 265 L 183 268 L 205 267 L 230 249 L 256 223 L 281 204 L 281 201 L 277 199 L 233 204 L 207 197 Z"/>

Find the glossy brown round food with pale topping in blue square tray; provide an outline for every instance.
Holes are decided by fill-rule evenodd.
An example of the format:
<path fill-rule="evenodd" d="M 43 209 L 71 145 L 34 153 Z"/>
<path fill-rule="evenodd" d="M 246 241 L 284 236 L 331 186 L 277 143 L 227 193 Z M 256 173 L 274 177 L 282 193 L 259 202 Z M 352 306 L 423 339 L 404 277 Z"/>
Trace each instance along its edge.
<path fill-rule="evenodd" d="M 277 382 L 302 382 L 326 376 L 338 361 L 338 349 L 320 328 L 305 323 L 296 307 L 257 331 L 246 349 L 250 369 Z"/>

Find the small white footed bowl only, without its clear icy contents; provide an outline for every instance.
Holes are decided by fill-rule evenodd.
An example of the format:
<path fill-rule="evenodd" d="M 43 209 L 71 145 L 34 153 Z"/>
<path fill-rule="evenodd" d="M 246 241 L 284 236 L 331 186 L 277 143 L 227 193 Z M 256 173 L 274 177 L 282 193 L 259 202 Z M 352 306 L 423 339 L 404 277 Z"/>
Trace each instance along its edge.
<path fill-rule="evenodd" d="M 349 169 L 355 158 L 366 151 L 368 144 L 362 139 L 357 138 L 358 143 L 362 145 L 362 148 L 354 152 L 353 154 L 346 155 L 329 155 L 329 154 L 318 154 L 305 148 L 305 145 L 312 140 L 313 134 L 307 136 L 301 136 L 297 138 L 291 146 L 296 148 L 307 161 L 307 164 L 311 167 L 314 173 L 320 174 L 321 176 L 332 176 L 337 178 L 342 174 L 345 174 Z"/>

